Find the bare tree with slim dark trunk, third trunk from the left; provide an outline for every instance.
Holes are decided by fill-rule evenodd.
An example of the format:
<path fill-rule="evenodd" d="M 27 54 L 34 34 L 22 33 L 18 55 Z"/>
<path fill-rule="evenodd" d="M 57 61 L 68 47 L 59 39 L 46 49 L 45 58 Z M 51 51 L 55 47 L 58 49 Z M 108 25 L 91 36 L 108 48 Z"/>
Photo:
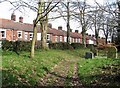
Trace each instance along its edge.
<path fill-rule="evenodd" d="M 70 44 L 70 18 L 71 18 L 71 3 L 69 0 L 67 2 L 60 2 L 59 6 L 55 11 L 59 14 L 59 16 L 55 18 L 63 18 L 64 21 L 66 22 L 66 27 L 67 27 L 67 43 Z M 55 12 L 54 11 L 54 12 Z M 54 18 L 54 19 L 55 19 Z"/>

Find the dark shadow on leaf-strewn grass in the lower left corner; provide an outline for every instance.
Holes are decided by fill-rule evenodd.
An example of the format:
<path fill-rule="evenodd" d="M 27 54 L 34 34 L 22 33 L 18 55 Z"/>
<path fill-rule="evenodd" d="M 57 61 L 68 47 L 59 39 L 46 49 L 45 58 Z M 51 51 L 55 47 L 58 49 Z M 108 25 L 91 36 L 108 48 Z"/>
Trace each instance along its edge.
<path fill-rule="evenodd" d="M 17 70 L 17 69 L 14 69 Z M 25 74 L 17 74 L 14 70 L 2 70 L 2 88 L 30 88 L 34 85 L 26 81 Z"/>

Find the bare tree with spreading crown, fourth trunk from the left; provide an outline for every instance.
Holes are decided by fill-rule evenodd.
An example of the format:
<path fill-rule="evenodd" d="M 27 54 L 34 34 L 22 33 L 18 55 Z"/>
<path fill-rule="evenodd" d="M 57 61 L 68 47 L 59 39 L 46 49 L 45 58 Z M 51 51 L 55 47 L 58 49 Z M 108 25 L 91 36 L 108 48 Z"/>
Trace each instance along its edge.
<path fill-rule="evenodd" d="M 76 11 L 74 12 L 74 18 L 80 23 L 82 27 L 82 44 L 84 44 L 84 47 L 86 47 L 86 31 L 89 27 L 89 8 L 90 6 L 87 5 L 86 0 L 83 2 L 77 0 L 77 2 L 74 2 L 74 6 L 76 8 Z"/>

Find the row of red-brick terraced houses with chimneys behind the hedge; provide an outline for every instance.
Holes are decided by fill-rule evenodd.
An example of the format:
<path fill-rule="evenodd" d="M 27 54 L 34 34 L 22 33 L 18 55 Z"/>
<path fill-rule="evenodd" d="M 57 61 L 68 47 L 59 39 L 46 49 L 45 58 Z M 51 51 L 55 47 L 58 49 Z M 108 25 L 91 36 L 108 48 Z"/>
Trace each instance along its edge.
<path fill-rule="evenodd" d="M 52 28 L 49 24 L 47 32 L 47 41 L 52 43 L 67 42 L 67 32 L 61 26 Z M 38 26 L 37 41 L 41 40 L 41 30 Z M 16 22 L 16 15 L 11 15 L 11 20 L 0 18 L 0 40 L 9 41 L 30 41 L 33 37 L 33 24 L 23 23 L 23 17 L 19 17 L 19 22 Z M 82 43 L 82 34 L 75 30 L 70 32 L 71 43 Z M 99 42 L 104 44 L 104 39 L 99 38 Z M 86 35 L 86 44 L 96 44 L 94 35 Z"/>

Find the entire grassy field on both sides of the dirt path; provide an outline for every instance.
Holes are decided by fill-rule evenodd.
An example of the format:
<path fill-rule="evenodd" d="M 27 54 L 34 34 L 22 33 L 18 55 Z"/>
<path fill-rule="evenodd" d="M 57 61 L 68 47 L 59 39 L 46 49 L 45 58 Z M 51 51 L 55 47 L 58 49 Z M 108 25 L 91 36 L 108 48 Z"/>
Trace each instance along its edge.
<path fill-rule="evenodd" d="M 119 85 L 120 59 L 94 58 L 84 59 L 88 49 L 79 50 L 47 50 L 36 51 L 35 58 L 29 58 L 29 52 L 2 52 L 2 85 L 6 86 L 36 86 L 44 77 L 46 69 L 52 70 L 60 61 L 79 59 L 78 75 L 83 85 Z M 61 64 L 62 65 L 62 64 Z M 70 65 L 68 76 L 73 73 Z M 120 86 L 120 85 L 119 85 Z"/>

